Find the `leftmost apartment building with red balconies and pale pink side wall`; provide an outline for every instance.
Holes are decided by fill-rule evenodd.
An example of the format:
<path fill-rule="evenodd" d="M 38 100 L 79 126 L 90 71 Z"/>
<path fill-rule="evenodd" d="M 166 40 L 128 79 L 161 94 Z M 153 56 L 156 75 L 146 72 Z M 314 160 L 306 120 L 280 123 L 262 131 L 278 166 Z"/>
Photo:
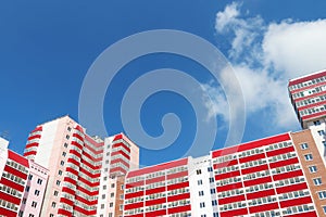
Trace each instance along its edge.
<path fill-rule="evenodd" d="M 48 169 L 8 149 L 0 138 L 0 216 L 40 216 Z"/>

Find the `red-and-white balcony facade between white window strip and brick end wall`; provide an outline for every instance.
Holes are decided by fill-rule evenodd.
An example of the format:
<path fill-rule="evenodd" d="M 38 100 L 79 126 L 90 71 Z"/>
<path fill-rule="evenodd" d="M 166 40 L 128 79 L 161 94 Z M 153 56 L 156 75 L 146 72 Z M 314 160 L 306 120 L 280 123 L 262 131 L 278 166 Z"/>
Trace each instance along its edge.
<path fill-rule="evenodd" d="M 316 216 L 289 133 L 212 152 L 221 217 Z"/>

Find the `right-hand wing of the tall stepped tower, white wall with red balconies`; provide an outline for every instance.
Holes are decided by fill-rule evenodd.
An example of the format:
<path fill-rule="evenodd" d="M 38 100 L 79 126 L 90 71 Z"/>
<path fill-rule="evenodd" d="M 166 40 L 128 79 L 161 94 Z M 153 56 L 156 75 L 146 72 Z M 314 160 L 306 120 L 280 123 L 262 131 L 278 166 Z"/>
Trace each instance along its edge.
<path fill-rule="evenodd" d="M 139 167 L 138 155 L 139 148 L 123 133 L 104 139 L 97 216 L 122 215 L 123 201 L 116 193 L 121 191 L 118 188 L 126 173 Z"/>

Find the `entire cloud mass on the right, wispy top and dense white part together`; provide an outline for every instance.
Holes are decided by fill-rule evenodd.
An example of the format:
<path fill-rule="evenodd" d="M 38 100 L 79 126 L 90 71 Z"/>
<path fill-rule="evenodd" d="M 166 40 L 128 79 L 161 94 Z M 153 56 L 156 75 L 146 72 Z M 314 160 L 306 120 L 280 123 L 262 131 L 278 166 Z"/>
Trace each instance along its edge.
<path fill-rule="evenodd" d="M 326 68 L 326 20 L 264 24 L 260 16 L 243 18 L 240 8 L 231 3 L 218 12 L 215 29 L 230 39 L 228 58 L 242 88 L 247 115 L 267 112 L 266 122 L 292 129 L 298 120 L 288 99 L 288 79 Z M 217 95 L 214 104 L 205 104 L 210 117 L 226 116 L 221 112 L 227 104 L 221 89 L 203 87 Z"/>

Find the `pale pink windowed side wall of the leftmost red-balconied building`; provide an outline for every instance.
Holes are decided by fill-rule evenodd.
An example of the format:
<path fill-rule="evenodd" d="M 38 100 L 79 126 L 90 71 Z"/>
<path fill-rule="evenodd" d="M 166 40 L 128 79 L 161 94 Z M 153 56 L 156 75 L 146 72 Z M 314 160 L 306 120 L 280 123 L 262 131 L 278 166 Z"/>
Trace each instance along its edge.
<path fill-rule="evenodd" d="M 49 170 L 34 162 L 29 162 L 27 186 L 23 196 L 20 216 L 39 217 L 47 188 Z"/>

